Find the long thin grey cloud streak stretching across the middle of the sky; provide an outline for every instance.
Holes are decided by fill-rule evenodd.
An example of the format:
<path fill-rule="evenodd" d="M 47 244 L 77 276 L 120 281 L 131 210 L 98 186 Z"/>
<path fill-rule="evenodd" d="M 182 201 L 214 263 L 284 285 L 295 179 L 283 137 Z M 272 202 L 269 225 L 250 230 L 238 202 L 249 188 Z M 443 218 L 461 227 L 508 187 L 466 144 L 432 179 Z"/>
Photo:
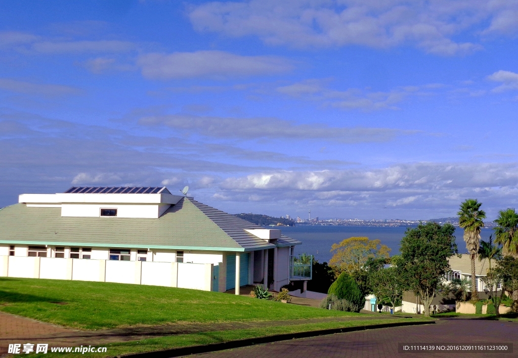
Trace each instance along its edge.
<path fill-rule="evenodd" d="M 270 139 L 324 139 L 342 143 L 386 142 L 397 135 L 413 134 L 391 128 L 328 127 L 322 123 L 296 125 L 278 118 L 232 118 L 194 115 L 163 115 L 142 117 L 140 125 L 165 125 L 170 128 L 219 137 L 254 140 Z"/>

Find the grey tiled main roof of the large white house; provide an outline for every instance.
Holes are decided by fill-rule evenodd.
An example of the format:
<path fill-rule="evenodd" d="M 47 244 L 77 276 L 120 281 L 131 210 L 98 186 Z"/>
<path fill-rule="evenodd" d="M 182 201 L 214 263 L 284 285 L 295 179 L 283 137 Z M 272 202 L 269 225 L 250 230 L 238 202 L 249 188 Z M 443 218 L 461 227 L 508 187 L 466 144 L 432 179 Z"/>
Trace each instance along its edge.
<path fill-rule="evenodd" d="M 262 228 L 191 198 L 160 218 L 66 217 L 61 208 L 7 206 L 0 211 L 0 243 L 131 246 L 150 249 L 253 251 L 276 245 L 244 229 Z M 299 241 L 282 237 L 277 246 Z"/>

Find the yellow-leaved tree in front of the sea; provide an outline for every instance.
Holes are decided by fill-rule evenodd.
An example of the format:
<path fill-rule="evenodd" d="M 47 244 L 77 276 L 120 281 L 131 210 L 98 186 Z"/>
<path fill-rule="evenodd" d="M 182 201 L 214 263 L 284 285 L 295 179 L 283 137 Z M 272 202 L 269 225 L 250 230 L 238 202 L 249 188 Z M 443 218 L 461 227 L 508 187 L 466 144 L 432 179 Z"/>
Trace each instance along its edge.
<path fill-rule="evenodd" d="M 352 237 L 331 246 L 333 257 L 329 266 L 336 271 L 352 274 L 364 267 L 369 258 L 389 258 L 391 249 L 382 245 L 381 240 L 369 240 L 366 237 Z"/>

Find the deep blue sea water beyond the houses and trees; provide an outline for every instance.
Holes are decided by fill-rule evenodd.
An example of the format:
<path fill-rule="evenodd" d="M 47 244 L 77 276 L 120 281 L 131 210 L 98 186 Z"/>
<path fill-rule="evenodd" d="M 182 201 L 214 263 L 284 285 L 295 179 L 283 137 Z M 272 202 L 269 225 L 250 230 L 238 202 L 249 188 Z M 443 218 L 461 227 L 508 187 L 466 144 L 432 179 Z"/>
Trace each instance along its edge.
<path fill-rule="evenodd" d="M 330 250 L 334 243 L 357 236 L 365 236 L 370 240 L 380 239 L 382 244 L 392 249 L 391 256 L 397 255 L 399 254 L 399 243 L 405 236 L 407 227 L 297 225 L 282 226 L 280 229 L 283 235 L 302 242 L 301 245 L 295 246 L 295 254 L 306 253 L 314 255 L 319 262 L 329 262 L 333 256 Z M 466 244 L 462 238 L 463 233 L 463 229 L 455 230 L 458 252 L 465 254 Z M 487 240 L 492 233 L 492 229 L 482 229 L 482 239 Z"/>

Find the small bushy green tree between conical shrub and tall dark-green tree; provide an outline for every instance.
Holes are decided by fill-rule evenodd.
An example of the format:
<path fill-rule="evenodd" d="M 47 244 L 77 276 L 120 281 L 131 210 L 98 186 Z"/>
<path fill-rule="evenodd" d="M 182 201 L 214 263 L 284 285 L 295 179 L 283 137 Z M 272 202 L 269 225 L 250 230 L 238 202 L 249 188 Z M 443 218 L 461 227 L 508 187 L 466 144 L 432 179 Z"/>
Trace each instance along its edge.
<path fill-rule="evenodd" d="M 389 301 L 396 307 L 396 302 L 402 298 L 405 281 L 396 267 L 387 267 L 372 273 L 370 285 L 379 302 Z"/>

